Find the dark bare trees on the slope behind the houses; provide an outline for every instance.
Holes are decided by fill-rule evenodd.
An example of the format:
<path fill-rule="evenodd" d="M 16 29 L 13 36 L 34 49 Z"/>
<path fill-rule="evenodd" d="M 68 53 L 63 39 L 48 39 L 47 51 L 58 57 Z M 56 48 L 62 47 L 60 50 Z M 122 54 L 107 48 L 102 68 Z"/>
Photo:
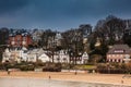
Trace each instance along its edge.
<path fill-rule="evenodd" d="M 16 30 L 16 33 L 26 32 L 26 29 Z M 11 33 L 13 33 L 12 28 L 0 28 L 1 54 L 4 49 L 3 46 L 8 44 L 8 37 Z M 60 39 L 61 45 L 55 44 L 57 33 L 59 32 L 44 29 L 36 47 L 51 51 L 64 49 L 68 50 L 70 55 L 74 57 L 79 57 L 80 53 L 86 51 L 91 55 L 99 54 L 103 58 L 105 58 L 108 47 L 115 44 L 127 44 L 131 47 L 131 20 L 122 20 L 114 15 L 107 16 L 105 20 L 99 20 L 94 27 L 91 24 L 81 24 L 78 28 L 70 28 L 60 33 L 62 37 Z M 48 46 L 49 39 L 53 46 Z M 100 46 L 96 47 L 95 44 L 98 41 Z"/>

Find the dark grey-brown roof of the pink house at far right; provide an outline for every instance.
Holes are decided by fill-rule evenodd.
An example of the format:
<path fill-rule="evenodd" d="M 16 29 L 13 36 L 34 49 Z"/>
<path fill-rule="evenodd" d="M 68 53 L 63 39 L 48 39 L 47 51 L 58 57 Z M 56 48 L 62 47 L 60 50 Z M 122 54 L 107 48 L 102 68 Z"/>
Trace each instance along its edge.
<path fill-rule="evenodd" d="M 128 45 L 115 45 L 109 49 L 107 54 L 130 54 L 131 50 Z"/>

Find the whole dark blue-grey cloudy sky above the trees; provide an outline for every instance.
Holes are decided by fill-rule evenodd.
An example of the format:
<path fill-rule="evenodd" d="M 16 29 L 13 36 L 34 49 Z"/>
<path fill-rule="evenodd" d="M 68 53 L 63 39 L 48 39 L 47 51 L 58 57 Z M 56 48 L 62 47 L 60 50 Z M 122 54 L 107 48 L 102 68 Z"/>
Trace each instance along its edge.
<path fill-rule="evenodd" d="M 0 27 L 67 30 L 108 15 L 131 18 L 131 0 L 0 0 Z"/>

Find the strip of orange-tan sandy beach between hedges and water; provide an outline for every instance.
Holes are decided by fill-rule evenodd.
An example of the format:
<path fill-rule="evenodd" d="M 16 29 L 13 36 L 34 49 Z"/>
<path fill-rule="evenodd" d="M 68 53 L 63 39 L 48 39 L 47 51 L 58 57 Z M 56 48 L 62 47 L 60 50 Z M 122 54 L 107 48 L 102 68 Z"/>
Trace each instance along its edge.
<path fill-rule="evenodd" d="M 88 74 L 88 73 L 68 73 L 68 72 L 0 72 L 0 77 L 28 77 L 28 78 L 45 78 L 58 80 L 74 80 L 87 83 L 102 83 L 131 86 L 131 75 L 123 78 L 123 74 Z"/>

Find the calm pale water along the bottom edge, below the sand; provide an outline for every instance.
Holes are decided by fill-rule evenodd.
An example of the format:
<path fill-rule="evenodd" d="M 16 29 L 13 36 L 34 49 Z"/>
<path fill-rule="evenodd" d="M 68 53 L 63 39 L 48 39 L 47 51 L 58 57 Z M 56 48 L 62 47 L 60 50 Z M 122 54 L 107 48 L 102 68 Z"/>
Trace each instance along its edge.
<path fill-rule="evenodd" d="M 0 87 L 131 87 L 41 78 L 0 78 Z"/>

